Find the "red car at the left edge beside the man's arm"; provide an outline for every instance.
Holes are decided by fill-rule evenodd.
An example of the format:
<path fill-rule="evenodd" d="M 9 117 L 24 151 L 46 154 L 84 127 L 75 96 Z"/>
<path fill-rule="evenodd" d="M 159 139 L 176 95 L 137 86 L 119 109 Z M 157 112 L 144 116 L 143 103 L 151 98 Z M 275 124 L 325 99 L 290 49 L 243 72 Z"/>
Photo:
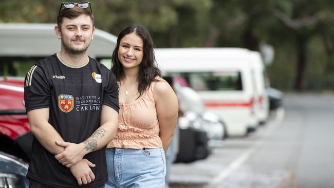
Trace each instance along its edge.
<path fill-rule="evenodd" d="M 0 77 L 0 151 L 29 162 L 31 144 L 24 78 Z"/>

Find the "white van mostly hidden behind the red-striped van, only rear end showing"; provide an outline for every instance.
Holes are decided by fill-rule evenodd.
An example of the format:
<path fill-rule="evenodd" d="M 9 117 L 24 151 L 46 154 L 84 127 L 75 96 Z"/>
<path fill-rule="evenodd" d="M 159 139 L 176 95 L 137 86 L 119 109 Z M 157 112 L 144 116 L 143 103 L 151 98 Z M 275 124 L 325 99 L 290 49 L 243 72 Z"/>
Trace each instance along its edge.
<path fill-rule="evenodd" d="M 257 51 L 250 52 L 252 60 L 252 73 L 255 80 L 255 115 L 257 121 L 265 123 L 269 115 L 269 98 L 265 86 L 265 68 L 261 54 Z"/>

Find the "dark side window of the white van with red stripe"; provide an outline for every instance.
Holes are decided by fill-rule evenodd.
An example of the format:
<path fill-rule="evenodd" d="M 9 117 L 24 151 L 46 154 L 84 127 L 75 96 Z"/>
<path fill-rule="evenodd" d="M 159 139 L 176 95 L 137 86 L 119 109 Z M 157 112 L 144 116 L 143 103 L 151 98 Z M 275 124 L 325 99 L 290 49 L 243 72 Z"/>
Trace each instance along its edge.
<path fill-rule="evenodd" d="M 243 90 L 240 71 L 170 72 L 169 75 L 183 77 L 196 91 Z"/>

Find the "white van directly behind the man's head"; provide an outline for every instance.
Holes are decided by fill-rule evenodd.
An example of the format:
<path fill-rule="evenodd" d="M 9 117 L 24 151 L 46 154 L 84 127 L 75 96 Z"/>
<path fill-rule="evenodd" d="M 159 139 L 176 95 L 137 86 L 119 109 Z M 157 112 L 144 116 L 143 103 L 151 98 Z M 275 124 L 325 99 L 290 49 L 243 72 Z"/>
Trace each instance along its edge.
<path fill-rule="evenodd" d="M 0 76 L 24 77 L 30 67 L 60 51 L 61 41 L 53 28 L 57 24 L 0 24 Z M 117 37 L 96 29 L 88 54 L 98 61 L 109 59 Z M 101 62 L 103 63 L 103 62 Z"/>

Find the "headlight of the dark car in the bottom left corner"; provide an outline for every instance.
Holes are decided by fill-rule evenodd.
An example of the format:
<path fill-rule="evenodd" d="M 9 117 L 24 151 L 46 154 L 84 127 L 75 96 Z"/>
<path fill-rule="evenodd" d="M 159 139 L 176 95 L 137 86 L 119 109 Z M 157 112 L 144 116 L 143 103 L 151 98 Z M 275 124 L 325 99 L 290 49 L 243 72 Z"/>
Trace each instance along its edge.
<path fill-rule="evenodd" d="M 0 187 L 24 188 L 25 183 L 22 177 L 11 173 L 0 172 Z"/>

